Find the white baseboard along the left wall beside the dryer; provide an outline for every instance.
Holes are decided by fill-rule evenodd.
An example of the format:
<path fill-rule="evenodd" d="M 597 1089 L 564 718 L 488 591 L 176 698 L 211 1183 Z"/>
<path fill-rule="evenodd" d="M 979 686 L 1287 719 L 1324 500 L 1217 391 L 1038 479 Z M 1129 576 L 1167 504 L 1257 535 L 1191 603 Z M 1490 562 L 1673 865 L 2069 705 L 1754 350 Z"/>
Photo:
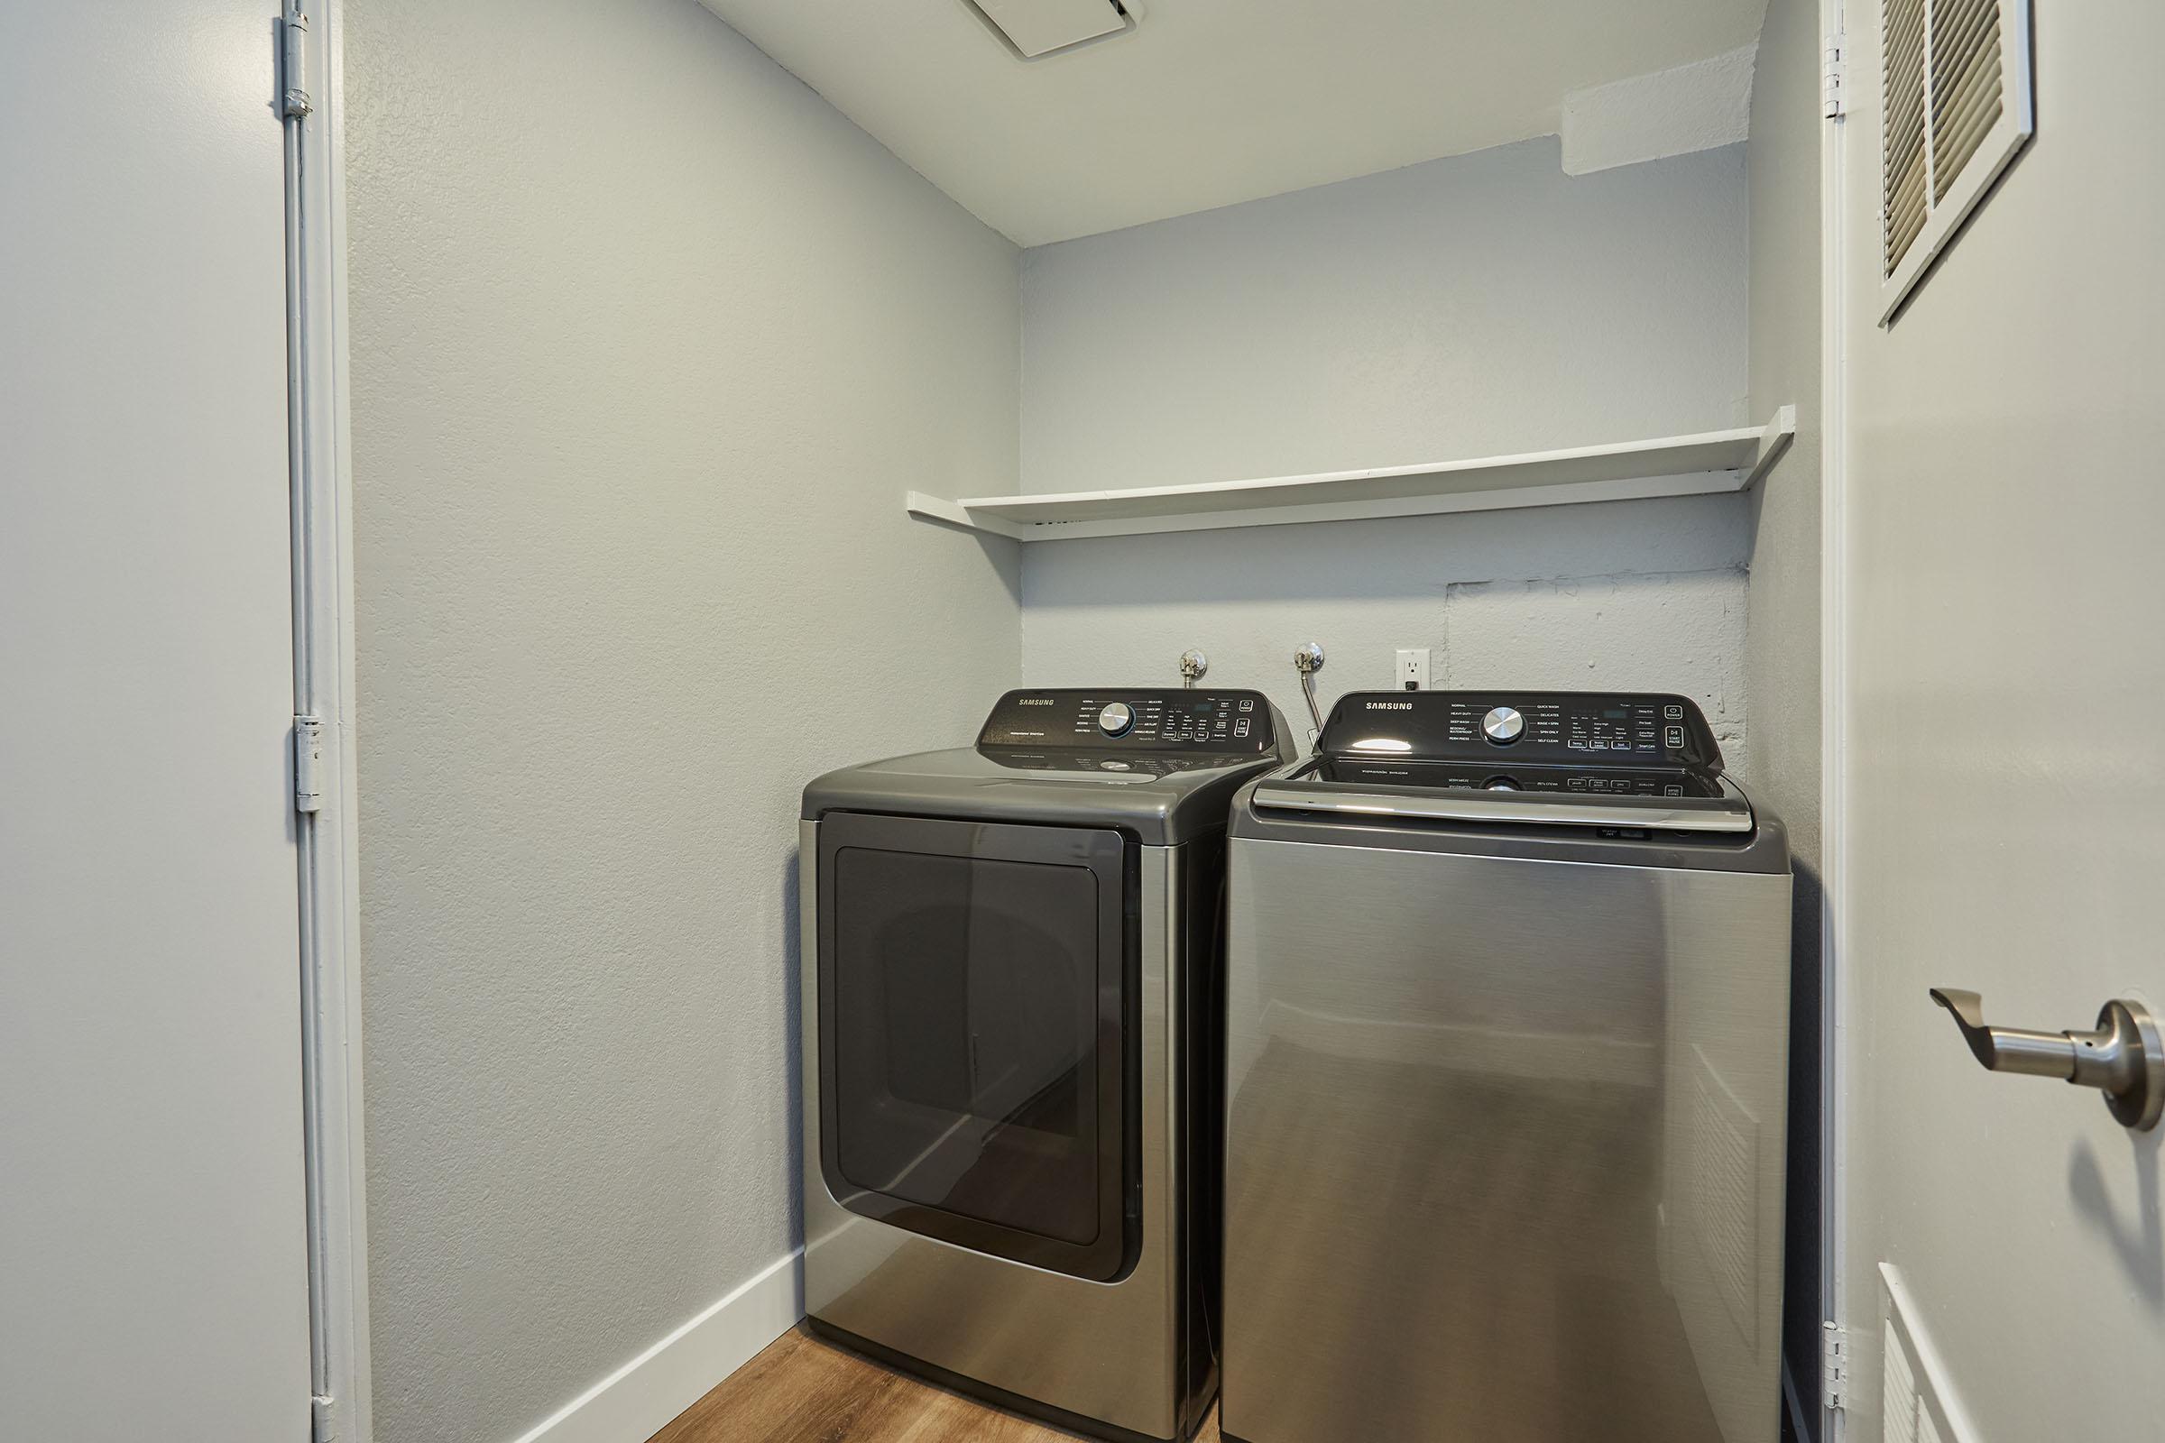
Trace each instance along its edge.
<path fill-rule="evenodd" d="M 662 1424 L 797 1326 L 805 1315 L 801 1261 L 801 1248 L 777 1257 L 517 1443 L 647 1443 Z"/>

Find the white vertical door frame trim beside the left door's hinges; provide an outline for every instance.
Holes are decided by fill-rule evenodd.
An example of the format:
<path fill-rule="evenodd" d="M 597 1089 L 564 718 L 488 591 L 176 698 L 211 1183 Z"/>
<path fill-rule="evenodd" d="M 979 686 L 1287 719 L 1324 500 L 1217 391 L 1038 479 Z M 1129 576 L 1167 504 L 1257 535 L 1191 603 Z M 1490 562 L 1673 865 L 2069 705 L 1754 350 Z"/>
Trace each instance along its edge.
<path fill-rule="evenodd" d="M 362 969 L 353 749 L 353 446 L 346 420 L 342 0 L 288 0 L 307 19 L 310 112 L 299 134 L 299 474 L 294 712 L 323 723 L 320 803 L 299 813 L 301 1056 L 307 1123 L 310 1352 L 316 1437 L 372 1443 L 362 1166 Z M 281 84 L 290 84 L 290 78 Z M 288 249 L 292 257 L 294 251 Z"/>

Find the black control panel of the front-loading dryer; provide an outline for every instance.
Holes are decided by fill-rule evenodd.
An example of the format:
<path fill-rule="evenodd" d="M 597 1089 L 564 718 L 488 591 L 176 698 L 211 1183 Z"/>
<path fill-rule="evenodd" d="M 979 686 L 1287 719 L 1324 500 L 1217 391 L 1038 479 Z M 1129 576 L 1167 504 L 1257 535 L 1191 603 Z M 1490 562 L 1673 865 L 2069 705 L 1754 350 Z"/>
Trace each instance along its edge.
<path fill-rule="evenodd" d="M 976 744 L 1260 757 L 1277 751 L 1277 731 L 1262 692 L 1054 688 L 1000 697 Z"/>

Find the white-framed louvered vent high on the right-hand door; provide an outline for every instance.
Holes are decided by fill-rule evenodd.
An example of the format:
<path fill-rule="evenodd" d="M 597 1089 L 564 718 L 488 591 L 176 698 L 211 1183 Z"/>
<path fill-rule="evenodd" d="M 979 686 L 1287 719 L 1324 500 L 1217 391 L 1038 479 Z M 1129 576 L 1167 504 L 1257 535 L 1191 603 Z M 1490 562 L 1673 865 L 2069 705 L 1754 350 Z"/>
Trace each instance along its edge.
<path fill-rule="evenodd" d="M 1888 322 L 2037 125 L 2029 0 L 1886 0 L 1879 26 Z"/>

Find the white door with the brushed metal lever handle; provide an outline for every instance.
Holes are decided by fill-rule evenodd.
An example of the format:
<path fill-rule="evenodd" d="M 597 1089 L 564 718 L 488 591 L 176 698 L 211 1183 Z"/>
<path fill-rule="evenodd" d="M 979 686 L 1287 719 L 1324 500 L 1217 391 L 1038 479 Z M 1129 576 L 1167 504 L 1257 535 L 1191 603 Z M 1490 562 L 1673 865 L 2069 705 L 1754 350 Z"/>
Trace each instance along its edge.
<path fill-rule="evenodd" d="M 2165 1437 L 2165 1134 L 1983 1071 L 1927 997 L 2055 1032 L 2107 997 L 2165 1012 L 2165 6 L 2035 13 L 2037 136 L 1888 329 L 1879 0 L 1847 15 L 1842 1266 L 1866 1443 Z M 1916 1333 L 1892 1354 L 1888 1279 Z"/>

